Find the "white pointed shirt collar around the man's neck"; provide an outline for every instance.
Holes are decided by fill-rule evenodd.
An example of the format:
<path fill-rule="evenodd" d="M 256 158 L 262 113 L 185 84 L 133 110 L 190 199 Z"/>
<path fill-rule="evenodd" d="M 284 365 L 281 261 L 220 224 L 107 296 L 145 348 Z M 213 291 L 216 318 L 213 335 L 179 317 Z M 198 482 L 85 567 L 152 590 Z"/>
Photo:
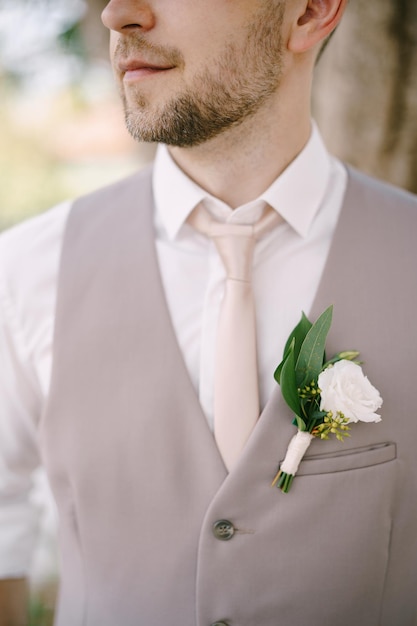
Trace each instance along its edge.
<path fill-rule="evenodd" d="M 236 212 L 243 217 L 253 206 L 267 203 L 301 237 L 306 237 L 324 199 L 330 167 L 329 153 L 313 123 L 306 146 L 272 185 L 255 201 L 232 211 L 193 182 L 172 159 L 167 147 L 160 145 L 153 173 L 157 220 L 168 238 L 174 239 L 191 211 L 203 200 L 216 217 L 228 221 L 234 221 Z"/>

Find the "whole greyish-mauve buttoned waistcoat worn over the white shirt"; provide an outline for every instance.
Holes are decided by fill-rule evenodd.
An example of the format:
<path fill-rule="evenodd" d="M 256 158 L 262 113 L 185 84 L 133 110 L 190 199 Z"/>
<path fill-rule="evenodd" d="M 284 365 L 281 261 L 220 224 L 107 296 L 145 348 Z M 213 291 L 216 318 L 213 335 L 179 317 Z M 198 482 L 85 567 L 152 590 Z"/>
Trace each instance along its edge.
<path fill-rule="evenodd" d="M 417 623 L 416 206 L 349 174 L 311 315 L 335 305 L 329 353 L 361 351 L 383 421 L 314 440 L 285 495 L 270 486 L 295 432 L 278 386 L 222 464 L 164 297 L 150 173 L 75 203 L 40 427 L 58 626 Z"/>

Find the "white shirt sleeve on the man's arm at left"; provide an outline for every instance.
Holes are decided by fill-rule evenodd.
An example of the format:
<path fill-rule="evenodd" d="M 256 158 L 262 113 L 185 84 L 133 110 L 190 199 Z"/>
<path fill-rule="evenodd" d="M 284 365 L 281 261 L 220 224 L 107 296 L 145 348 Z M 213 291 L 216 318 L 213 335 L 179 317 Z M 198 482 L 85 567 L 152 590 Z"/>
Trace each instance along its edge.
<path fill-rule="evenodd" d="M 43 495 L 49 492 L 40 491 L 42 472 L 35 471 L 38 425 L 49 392 L 59 259 L 71 206 L 62 202 L 0 236 L 0 578 L 33 573 L 35 547 L 45 535 Z"/>

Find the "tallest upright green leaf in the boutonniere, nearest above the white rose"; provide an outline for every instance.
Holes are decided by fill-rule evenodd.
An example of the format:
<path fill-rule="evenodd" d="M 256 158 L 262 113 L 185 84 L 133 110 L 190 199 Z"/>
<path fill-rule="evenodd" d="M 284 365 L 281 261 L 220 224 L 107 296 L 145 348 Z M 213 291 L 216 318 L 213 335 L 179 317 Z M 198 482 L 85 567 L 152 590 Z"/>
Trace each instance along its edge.
<path fill-rule="evenodd" d="M 321 372 L 326 338 L 332 323 L 333 306 L 329 306 L 308 331 L 298 355 L 296 383 L 304 387 L 315 380 Z"/>

